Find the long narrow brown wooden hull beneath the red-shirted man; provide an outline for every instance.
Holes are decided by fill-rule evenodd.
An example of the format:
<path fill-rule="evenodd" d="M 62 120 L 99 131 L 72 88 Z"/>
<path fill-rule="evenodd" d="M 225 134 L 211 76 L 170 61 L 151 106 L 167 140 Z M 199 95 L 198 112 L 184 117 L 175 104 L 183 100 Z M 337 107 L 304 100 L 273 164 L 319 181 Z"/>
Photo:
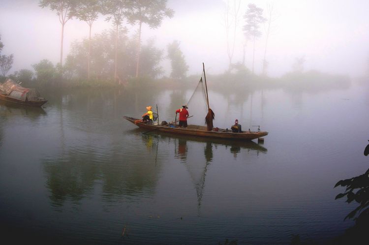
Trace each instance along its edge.
<path fill-rule="evenodd" d="M 265 131 L 243 131 L 242 133 L 233 133 L 232 130 L 226 130 L 222 128 L 218 128 L 218 131 L 208 131 L 206 126 L 201 125 L 191 125 L 189 124 L 187 128 L 178 127 L 176 124 L 167 124 L 167 125 L 155 125 L 146 122 L 142 122 L 137 118 L 131 117 L 123 117 L 128 122 L 132 122 L 136 126 L 146 129 L 152 130 L 152 132 L 164 132 L 172 135 L 190 135 L 196 137 L 206 137 L 206 138 L 218 138 L 218 139 L 231 139 L 231 140 L 253 140 L 263 136 L 268 135 L 268 132 Z"/>

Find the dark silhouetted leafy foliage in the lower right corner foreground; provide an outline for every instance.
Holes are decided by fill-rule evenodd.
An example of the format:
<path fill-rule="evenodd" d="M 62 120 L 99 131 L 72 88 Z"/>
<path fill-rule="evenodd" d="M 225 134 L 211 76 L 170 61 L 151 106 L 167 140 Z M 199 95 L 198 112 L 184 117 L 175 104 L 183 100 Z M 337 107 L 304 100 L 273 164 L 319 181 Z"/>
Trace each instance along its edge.
<path fill-rule="evenodd" d="M 364 151 L 368 155 L 369 145 Z M 344 219 L 353 218 L 355 225 L 345 231 L 345 234 L 335 239 L 335 244 L 362 244 L 367 240 L 366 234 L 369 227 L 369 169 L 362 175 L 340 180 L 337 186 L 346 187 L 343 193 L 339 193 L 336 199 L 346 197 L 346 202 L 355 201 L 359 204 L 357 208 L 346 215 Z"/>

